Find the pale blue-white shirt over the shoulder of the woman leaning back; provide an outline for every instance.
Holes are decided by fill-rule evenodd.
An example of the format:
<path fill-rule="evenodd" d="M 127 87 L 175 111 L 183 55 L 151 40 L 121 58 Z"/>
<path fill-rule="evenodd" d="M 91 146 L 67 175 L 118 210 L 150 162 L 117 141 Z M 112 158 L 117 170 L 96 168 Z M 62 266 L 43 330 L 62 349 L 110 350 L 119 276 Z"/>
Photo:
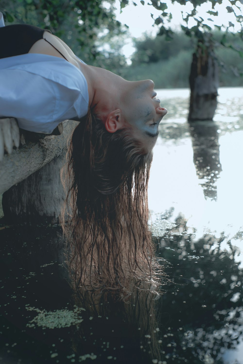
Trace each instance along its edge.
<path fill-rule="evenodd" d="M 65 59 L 33 53 L 0 59 L 0 117 L 16 118 L 20 128 L 50 134 L 86 115 L 88 102 L 83 73 Z"/>

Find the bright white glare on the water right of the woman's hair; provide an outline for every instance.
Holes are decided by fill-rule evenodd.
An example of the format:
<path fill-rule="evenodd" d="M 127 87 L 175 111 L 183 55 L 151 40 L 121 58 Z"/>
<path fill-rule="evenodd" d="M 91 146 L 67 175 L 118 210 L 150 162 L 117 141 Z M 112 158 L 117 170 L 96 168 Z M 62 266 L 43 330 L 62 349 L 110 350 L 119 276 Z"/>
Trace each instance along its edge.
<path fill-rule="evenodd" d="M 152 221 L 157 219 L 158 224 L 158 215 L 173 207 L 172 221 L 183 215 L 187 228 L 193 229 L 196 236 L 210 231 L 217 235 L 224 232 L 226 236 L 233 237 L 243 226 L 243 121 L 240 107 L 243 104 L 243 88 L 220 88 L 215 123 L 191 125 L 187 123 L 185 113 L 189 90 L 156 91 L 168 114 L 160 123 L 151 168 L 149 206 Z M 191 127 L 195 124 L 205 131 L 203 136 L 193 135 Z M 215 141 L 215 145 L 208 148 L 208 140 Z M 194 163 L 194 153 L 198 150 L 197 158 L 200 162 L 203 159 L 208 161 L 206 168 L 209 171 L 212 169 L 211 161 L 214 162 L 217 155 L 219 157 L 222 171 L 212 173 L 214 198 L 208 197 L 202 186 L 205 182 L 203 177 L 209 181 L 211 176 L 207 174 L 198 178 Z M 218 178 L 213 181 L 215 175 Z M 208 187 L 211 188 L 210 185 Z"/>

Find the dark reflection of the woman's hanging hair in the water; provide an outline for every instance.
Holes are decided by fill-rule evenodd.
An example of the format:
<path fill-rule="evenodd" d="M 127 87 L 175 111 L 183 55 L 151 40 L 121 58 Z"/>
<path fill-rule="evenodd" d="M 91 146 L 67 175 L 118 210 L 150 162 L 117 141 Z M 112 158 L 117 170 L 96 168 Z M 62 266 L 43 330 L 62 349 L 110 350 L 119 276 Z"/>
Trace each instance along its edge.
<path fill-rule="evenodd" d="M 82 290 L 73 294 L 76 312 L 83 320 L 71 327 L 72 351 L 77 356 L 84 354 L 84 350 L 91 353 L 95 349 L 100 363 L 106 363 L 107 357 L 114 355 L 115 347 L 116 363 L 148 364 L 162 359 L 162 297 L 151 292 L 150 282 L 132 284 L 139 284 L 140 289 L 132 290 L 125 300 L 117 297 L 117 290 L 105 290 L 98 297 L 95 292 Z M 108 341 L 105 352 L 104 341 Z"/>

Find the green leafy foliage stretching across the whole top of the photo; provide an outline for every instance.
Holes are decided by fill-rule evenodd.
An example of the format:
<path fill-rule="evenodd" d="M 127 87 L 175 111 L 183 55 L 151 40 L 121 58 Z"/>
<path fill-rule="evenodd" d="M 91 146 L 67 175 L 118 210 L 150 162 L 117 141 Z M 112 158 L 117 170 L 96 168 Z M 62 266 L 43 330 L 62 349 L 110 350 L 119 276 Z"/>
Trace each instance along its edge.
<path fill-rule="evenodd" d="M 133 3 L 136 6 L 139 3 L 139 0 L 119 1 L 120 11 L 128 4 Z M 124 38 L 127 37 L 128 27 L 116 20 L 115 2 L 115 0 L 1 0 L 0 11 L 4 14 L 6 24 L 28 23 L 50 29 L 55 35 L 61 37 L 70 48 L 75 50 L 77 56 L 85 59 L 85 62 L 93 66 L 117 71 L 126 65 L 126 59 L 121 54 L 121 48 Z M 145 1 L 141 0 L 140 3 L 144 5 Z M 185 15 L 182 12 L 182 19 L 186 25 L 181 25 L 181 28 L 184 34 L 192 39 L 190 44 L 193 43 L 193 40 L 194 44 L 197 44 L 198 40 L 203 43 L 205 39 L 210 39 L 215 46 L 221 45 L 231 48 L 243 58 L 243 16 L 237 0 L 228 0 L 226 9 L 228 13 L 234 14 L 235 24 L 240 24 L 241 30 L 236 33 L 232 32 L 232 27 L 235 24 L 229 21 L 228 25 L 226 25 L 226 32 L 220 33 L 222 34 L 220 39 L 215 39 L 212 36 L 211 27 L 205 23 L 202 17 L 198 16 L 197 9 L 200 5 L 207 3 L 208 16 L 217 17 L 219 14 L 215 10 L 215 6 L 216 4 L 224 6 L 223 0 L 167 0 L 167 2 L 149 0 L 147 4 L 151 6 L 151 9 L 161 11 L 160 16 L 156 19 L 151 13 L 154 24 L 159 28 L 158 35 L 163 35 L 166 40 L 174 38 L 175 44 L 176 41 L 182 41 L 182 37 L 175 34 L 170 27 L 172 15 L 167 11 L 169 3 L 180 5 L 190 3 L 193 5 L 190 13 Z M 242 0 L 241 3 L 243 3 Z M 196 25 L 190 27 L 189 20 L 191 18 L 196 21 Z M 212 19 L 208 18 L 207 20 Z M 219 30 L 223 30 L 221 25 L 215 26 Z M 241 42 L 232 41 L 231 35 L 238 35 Z M 143 62 L 157 62 L 158 60 L 166 60 L 169 55 L 173 55 L 170 42 L 164 45 L 163 53 L 156 50 L 156 42 L 159 43 L 159 40 L 153 41 L 148 37 L 143 43 L 136 41 L 138 52 L 133 59 L 134 65 L 141 63 L 141 59 L 143 59 Z M 183 42 L 182 48 L 186 50 L 189 40 L 186 41 L 183 38 Z M 107 44 L 109 44 L 108 47 Z M 174 50 L 175 52 L 176 50 Z"/>

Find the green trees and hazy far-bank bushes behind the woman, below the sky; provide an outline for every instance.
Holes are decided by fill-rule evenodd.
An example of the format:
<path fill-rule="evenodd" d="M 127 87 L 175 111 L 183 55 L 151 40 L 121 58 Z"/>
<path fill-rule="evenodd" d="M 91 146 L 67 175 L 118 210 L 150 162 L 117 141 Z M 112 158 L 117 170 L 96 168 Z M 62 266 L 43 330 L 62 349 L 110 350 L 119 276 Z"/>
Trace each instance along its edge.
<path fill-rule="evenodd" d="M 177 32 L 169 37 L 165 33 L 134 39 L 136 51 L 128 66 L 121 51 L 128 30 L 115 19 L 113 0 L 1 0 L 0 10 L 6 25 L 28 23 L 50 29 L 88 64 L 104 67 L 128 80 L 155 79 L 157 88 L 189 86 L 191 55 L 197 38 Z M 212 33 L 220 66 L 219 84 L 242 86 L 242 59 L 239 53 L 220 43 L 222 37 L 222 31 Z M 242 46 L 242 40 L 230 33 L 227 41 L 234 47 Z"/>

